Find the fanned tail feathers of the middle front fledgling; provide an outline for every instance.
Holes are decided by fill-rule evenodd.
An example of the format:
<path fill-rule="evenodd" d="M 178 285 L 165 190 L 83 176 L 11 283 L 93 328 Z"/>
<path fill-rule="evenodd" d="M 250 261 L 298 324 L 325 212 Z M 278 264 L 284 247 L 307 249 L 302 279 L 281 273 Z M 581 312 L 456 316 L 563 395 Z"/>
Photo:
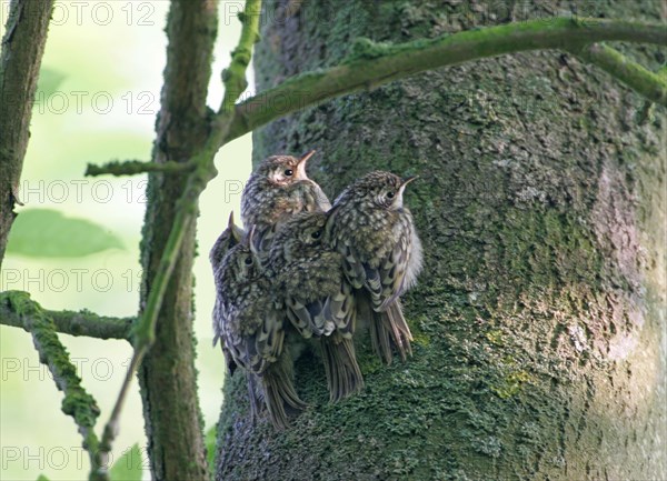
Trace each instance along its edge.
<path fill-rule="evenodd" d="M 355 343 L 334 333 L 322 338 L 322 360 L 331 401 L 339 401 L 364 389 L 364 375 L 357 363 Z"/>

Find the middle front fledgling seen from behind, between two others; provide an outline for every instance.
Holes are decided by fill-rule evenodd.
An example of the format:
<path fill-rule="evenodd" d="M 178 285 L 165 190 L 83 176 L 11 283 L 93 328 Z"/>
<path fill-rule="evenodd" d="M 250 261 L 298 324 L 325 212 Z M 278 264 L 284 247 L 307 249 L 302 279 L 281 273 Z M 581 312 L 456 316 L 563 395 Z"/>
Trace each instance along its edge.
<path fill-rule="evenodd" d="M 332 401 L 364 388 L 355 354 L 352 288 L 342 259 L 325 239 L 325 212 L 303 212 L 282 223 L 273 238 L 269 269 L 288 318 L 303 338 L 321 341 Z"/>

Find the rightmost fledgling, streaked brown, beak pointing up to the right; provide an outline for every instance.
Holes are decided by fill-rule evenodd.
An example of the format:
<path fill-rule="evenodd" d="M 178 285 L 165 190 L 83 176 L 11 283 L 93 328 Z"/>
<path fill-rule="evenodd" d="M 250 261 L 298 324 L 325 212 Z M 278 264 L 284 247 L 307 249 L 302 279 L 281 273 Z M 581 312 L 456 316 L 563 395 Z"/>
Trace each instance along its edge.
<path fill-rule="evenodd" d="M 359 309 L 370 307 L 372 345 L 387 362 L 389 339 L 404 359 L 410 353 L 411 334 L 398 298 L 415 284 L 421 269 L 421 242 L 402 203 L 411 180 L 370 172 L 342 191 L 327 222 L 327 236 L 344 257 L 345 274 L 360 290 Z"/>

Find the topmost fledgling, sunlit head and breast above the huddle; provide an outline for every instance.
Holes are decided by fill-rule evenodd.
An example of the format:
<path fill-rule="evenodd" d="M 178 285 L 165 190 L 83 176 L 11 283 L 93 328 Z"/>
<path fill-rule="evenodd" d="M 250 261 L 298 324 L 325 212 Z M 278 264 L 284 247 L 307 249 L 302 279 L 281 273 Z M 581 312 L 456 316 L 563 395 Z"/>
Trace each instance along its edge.
<path fill-rule="evenodd" d="M 252 172 L 243 189 L 241 220 L 243 226 L 255 226 L 256 247 L 262 261 L 280 222 L 298 212 L 331 208 L 322 189 L 306 174 L 306 163 L 313 153 L 315 150 L 300 159 L 269 157 Z"/>

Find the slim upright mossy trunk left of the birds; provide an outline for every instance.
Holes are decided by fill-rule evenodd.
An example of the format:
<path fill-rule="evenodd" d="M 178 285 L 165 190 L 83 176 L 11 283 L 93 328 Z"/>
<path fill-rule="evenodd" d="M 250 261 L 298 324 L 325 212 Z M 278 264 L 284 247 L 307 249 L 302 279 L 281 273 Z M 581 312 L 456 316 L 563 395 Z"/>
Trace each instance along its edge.
<path fill-rule="evenodd" d="M 155 162 L 186 162 L 207 138 L 206 96 L 217 33 L 217 2 L 172 1 L 167 67 L 157 121 Z M 171 230 L 186 176 L 151 173 L 141 244 L 145 307 Z M 156 342 L 139 371 L 153 480 L 208 478 L 202 420 L 197 399 L 192 335 L 195 226 L 185 233 L 157 321 Z"/>

